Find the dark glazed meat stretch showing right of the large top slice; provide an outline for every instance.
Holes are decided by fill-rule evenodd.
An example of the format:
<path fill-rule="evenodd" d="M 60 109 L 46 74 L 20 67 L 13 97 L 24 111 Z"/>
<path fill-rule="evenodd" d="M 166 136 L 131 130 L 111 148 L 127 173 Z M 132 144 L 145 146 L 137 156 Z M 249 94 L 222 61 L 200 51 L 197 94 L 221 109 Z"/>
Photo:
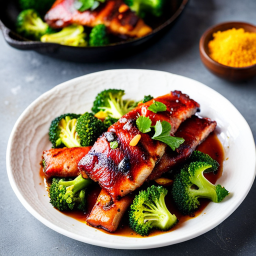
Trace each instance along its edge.
<path fill-rule="evenodd" d="M 186 160 L 195 147 L 199 145 L 216 127 L 216 122 L 209 118 L 200 118 L 193 115 L 180 124 L 175 136 L 182 137 L 185 141 L 175 150 L 166 147 L 160 161 L 148 176 L 147 180 L 158 178 L 162 173 L 171 170 L 173 167 L 181 164 Z"/>

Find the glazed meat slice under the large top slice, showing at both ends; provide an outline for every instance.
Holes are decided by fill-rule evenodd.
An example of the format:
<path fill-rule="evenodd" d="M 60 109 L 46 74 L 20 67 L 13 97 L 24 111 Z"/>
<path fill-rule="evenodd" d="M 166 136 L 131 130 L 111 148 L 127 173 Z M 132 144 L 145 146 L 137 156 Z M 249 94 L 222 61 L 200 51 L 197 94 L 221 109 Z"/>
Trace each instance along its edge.
<path fill-rule="evenodd" d="M 162 173 L 176 168 L 184 162 L 199 145 L 216 127 L 216 122 L 208 118 L 192 116 L 183 123 L 175 135 L 185 138 L 184 143 L 175 151 L 165 150 L 160 161 L 155 165 L 148 180 L 159 177 Z M 128 194 L 120 200 L 113 200 L 111 195 L 103 188 L 97 198 L 97 202 L 92 208 L 86 221 L 94 226 L 114 232 L 119 225 L 121 217 L 130 205 L 133 195 Z"/>

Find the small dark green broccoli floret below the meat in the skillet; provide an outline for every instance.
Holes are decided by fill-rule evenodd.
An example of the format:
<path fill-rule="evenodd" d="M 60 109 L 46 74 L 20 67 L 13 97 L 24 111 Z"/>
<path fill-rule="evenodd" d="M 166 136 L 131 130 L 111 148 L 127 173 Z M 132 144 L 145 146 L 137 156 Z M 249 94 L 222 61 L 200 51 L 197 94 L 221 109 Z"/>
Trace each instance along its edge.
<path fill-rule="evenodd" d="M 109 44 L 109 38 L 104 24 L 95 25 L 89 33 L 90 46 L 103 46 Z"/>

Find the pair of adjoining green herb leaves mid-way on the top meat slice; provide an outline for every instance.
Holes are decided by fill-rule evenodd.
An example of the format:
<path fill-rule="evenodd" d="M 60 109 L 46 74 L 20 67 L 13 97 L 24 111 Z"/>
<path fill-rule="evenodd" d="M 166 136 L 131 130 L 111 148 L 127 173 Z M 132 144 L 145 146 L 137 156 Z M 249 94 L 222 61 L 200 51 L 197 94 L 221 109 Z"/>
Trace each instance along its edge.
<path fill-rule="evenodd" d="M 152 139 L 162 141 L 163 143 L 170 146 L 172 150 L 175 150 L 182 144 L 185 140 L 180 137 L 174 137 L 170 135 L 171 125 L 167 121 L 156 121 L 154 126 L 151 126 L 151 120 L 147 116 L 139 116 L 136 119 L 136 124 L 140 132 L 146 133 L 153 127 L 155 130 Z"/>

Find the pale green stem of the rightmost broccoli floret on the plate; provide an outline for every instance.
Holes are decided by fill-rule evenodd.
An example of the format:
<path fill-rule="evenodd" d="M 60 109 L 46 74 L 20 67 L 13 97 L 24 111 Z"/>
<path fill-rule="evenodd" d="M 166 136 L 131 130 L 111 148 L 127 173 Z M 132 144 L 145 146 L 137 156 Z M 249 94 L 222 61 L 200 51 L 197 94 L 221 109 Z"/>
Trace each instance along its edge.
<path fill-rule="evenodd" d="M 196 170 L 193 177 L 189 177 L 190 181 L 199 188 L 193 189 L 190 187 L 189 189 L 193 196 L 208 198 L 213 202 L 218 202 L 215 185 L 208 181 L 203 175 L 203 171 L 210 167 L 211 165 L 200 167 Z"/>

